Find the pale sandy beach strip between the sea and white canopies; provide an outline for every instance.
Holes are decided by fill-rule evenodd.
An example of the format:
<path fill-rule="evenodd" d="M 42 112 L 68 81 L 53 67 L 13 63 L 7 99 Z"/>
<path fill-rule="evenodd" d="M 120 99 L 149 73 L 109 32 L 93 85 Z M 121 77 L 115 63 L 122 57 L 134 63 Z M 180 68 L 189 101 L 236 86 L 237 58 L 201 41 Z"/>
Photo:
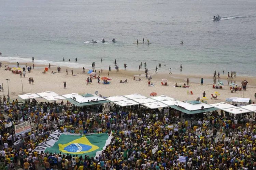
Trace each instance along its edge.
<path fill-rule="evenodd" d="M 23 68 L 25 63 L 19 63 L 20 67 Z M 32 66 L 32 63 L 27 63 L 28 66 Z M 209 99 L 208 103 L 217 103 L 217 102 L 225 102 L 228 97 L 244 97 L 251 98 L 254 101 L 254 94 L 256 91 L 256 77 L 239 77 L 231 79 L 232 81 L 236 81 L 236 84 L 241 87 L 241 81 L 247 80 L 248 87 L 246 91 L 237 91 L 236 93 L 230 92 L 230 86 L 227 85 L 227 75 L 221 75 L 223 79 L 221 81 L 224 82 L 223 89 L 214 89 L 212 88 L 212 84 L 200 84 L 200 79 L 210 80 L 212 78 L 211 75 L 184 75 L 184 74 L 149 74 L 152 75 L 151 83 L 155 86 L 148 86 L 147 80 L 145 78 L 145 73 L 143 71 L 129 71 L 129 70 L 119 70 L 115 71 L 114 68 L 109 72 L 108 70 L 103 70 L 103 73 L 98 74 L 100 77 L 106 76 L 112 79 L 110 84 L 98 84 L 97 79 L 93 79 L 93 83 L 91 85 L 86 85 L 86 79 L 89 77 L 89 74 L 82 73 L 81 69 L 67 68 L 61 67 L 61 73 L 51 74 L 51 71 L 57 72 L 57 66 L 51 66 L 51 69 L 48 70 L 45 74 L 42 74 L 44 71 L 44 67 L 48 67 L 45 65 L 37 65 L 35 64 L 35 69 L 32 69 L 31 73 L 28 73 L 26 70 L 26 77 L 20 78 L 19 74 L 14 74 L 11 71 L 4 70 L 5 68 L 16 65 L 16 63 L 8 63 L 2 62 L 2 67 L 0 68 L 0 83 L 4 88 L 4 95 L 8 95 L 7 81 L 6 79 L 10 79 L 9 81 L 9 94 L 11 100 L 18 99 L 18 95 L 26 94 L 26 93 L 38 93 L 43 91 L 55 91 L 59 95 L 69 94 L 72 92 L 77 92 L 79 94 L 94 94 L 95 91 L 98 91 L 104 97 L 115 96 L 115 95 L 129 95 L 129 94 L 142 94 L 146 97 L 150 97 L 151 92 L 156 92 L 157 96 L 159 95 L 167 95 L 172 98 L 175 98 L 180 101 L 185 100 L 195 100 L 197 97 L 202 98 L 202 93 L 205 91 L 206 97 Z M 6 66 L 6 67 L 5 67 Z M 39 67 L 40 69 L 37 69 Z M 68 69 L 68 75 L 66 74 L 66 69 Z M 71 75 L 71 70 L 73 74 Z M 99 73 L 101 70 L 97 70 Z M 109 73 L 109 76 L 108 76 Z M 134 81 L 133 76 L 136 75 L 136 79 L 139 77 L 141 81 Z M 34 84 L 29 84 L 28 78 L 33 77 Z M 175 83 L 177 85 L 183 85 L 185 80 L 193 79 L 193 81 L 198 80 L 198 83 L 194 83 L 190 81 L 189 88 L 181 88 L 181 87 L 173 87 Z M 127 79 L 127 83 L 119 83 L 120 80 Z M 161 85 L 161 79 L 168 80 L 168 86 Z M 23 81 L 23 92 L 22 92 L 22 81 Z M 66 81 L 67 89 L 63 88 L 63 82 Z M 194 95 L 188 95 L 187 91 L 193 91 Z M 219 96 L 216 100 L 211 99 L 211 94 L 215 91 L 219 92 Z M 2 96 L 2 92 L 1 92 Z"/>

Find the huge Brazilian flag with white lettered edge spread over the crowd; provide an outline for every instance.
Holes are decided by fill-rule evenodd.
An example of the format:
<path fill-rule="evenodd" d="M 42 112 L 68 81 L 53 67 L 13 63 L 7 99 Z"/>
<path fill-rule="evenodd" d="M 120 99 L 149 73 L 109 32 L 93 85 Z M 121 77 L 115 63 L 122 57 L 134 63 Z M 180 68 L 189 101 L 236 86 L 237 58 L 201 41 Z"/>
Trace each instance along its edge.
<path fill-rule="evenodd" d="M 79 156 L 88 155 L 91 157 L 96 156 L 98 151 L 105 148 L 110 143 L 110 140 L 109 135 L 105 133 L 77 135 L 55 131 L 46 142 L 40 143 L 35 150 L 49 153 L 69 153 Z"/>

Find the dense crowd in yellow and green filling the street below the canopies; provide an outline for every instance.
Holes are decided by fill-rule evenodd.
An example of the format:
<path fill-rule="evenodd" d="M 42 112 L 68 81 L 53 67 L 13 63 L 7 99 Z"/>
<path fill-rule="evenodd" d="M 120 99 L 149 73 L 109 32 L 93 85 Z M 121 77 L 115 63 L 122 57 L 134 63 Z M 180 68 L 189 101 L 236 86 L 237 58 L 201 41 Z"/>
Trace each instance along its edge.
<path fill-rule="evenodd" d="M 93 114 L 86 107 L 63 102 L 18 105 L 5 101 L 1 109 L 0 161 L 6 169 L 124 169 L 124 170 L 237 170 L 256 167 L 256 124 L 243 116 L 229 118 L 213 112 L 187 121 L 169 110 L 141 106 L 120 108 L 110 105 Z M 32 131 L 15 136 L 14 125 L 29 120 Z M 5 128 L 6 123 L 12 126 Z M 38 153 L 35 147 L 51 132 L 77 134 L 112 132 L 111 144 L 98 157 L 62 153 Z M 14 143 L 15 142 L 15 143 Z M 23 143 L 21 148 L 12 148 Z M 185 159 L 183 159 L 185 158 Z"/>

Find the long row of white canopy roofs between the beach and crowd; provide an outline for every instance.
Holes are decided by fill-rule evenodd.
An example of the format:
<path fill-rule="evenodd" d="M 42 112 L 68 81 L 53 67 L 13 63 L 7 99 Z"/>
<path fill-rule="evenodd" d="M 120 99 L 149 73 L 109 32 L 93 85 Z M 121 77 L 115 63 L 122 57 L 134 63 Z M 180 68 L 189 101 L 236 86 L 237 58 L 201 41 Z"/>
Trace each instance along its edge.
<path fill-rule="evenodd" d="M 234 115 L 256 112 L 256 104 L 237 107 L 225 102 L 215 104 L 206 104 L 198 101 L 181 102 L 165 95 L 147 98 L 140 94 L 131 94 L 125 96 L 112 96 L 102 98 L 100 96 L 91 94 L 79 95 L 77 93 L 71 93 L 66 95 L 58 95 L 53 91 L 45 91 L 37 94 L 34 93 L 19 95 L 19 97 L 22 99 L 44 98 L 47 101 L 69 100 L 72 104 L 75 104 L 76 106 L 94 105 L 107 102 L 113 102 L 121 107 L 141 104 L 151 109 L 170 106 L 186 114 L 210 112 L 218 109 Z"/>

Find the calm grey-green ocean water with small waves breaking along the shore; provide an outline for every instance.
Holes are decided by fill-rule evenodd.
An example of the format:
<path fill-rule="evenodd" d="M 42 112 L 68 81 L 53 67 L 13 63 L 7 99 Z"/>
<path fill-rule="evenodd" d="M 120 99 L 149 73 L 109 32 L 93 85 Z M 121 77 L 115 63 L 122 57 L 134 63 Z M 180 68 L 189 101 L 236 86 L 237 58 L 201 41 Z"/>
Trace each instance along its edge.
<path fill-rule="evenodd" d="M 2 0 L 0 61 L 34 56 L 35 64 L 114 69 L 116 59 L 120 69 L 146 62 L 153 71 L 161 62 L 159 72 L 254 76 L 255 7 L 255 0 Z M 216 14 L 223 19 L 213 21 Z M 143 37 L 152 44 L 133 44 Z"/>

